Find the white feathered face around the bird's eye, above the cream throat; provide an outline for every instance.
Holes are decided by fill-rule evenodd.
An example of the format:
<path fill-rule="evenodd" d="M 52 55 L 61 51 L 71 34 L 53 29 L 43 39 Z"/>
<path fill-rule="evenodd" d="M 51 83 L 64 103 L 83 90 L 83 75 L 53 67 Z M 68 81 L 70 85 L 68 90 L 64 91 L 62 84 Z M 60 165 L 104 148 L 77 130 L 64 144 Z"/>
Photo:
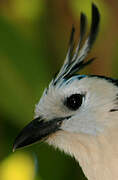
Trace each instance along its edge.
<path fill-rule="evenodd" d="M 97 135 L 108 124 L 110 110 L 115 107 L 118 88 L 111 82 L 98 77 L 70 79 L 62 85 L 50 86 L 36 105 L 35 117 L 42 116 L 46 121 L 68 117 L 60 129 L 74 133 Z M 68 107 L 67 98 L 81 95 L 78 107 Z M 72 105 L 72 104 L 71 104 Z"/>

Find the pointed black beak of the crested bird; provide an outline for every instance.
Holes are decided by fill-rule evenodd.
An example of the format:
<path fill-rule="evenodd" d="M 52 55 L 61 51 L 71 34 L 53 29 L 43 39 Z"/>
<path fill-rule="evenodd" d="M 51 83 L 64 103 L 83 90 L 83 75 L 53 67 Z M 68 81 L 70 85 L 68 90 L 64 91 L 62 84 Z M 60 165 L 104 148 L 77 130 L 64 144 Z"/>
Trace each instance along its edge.
<path fill-rule="evenodd" d="M 62 121 L 68 118 L 69 117 L 56 118 L 47 121 L 41 117 L 34 119 L 27 126 L 25 126 L 16 137 L 13 145 L 13 151 L 47 138 L 50 134 L 60 130 Z"/>

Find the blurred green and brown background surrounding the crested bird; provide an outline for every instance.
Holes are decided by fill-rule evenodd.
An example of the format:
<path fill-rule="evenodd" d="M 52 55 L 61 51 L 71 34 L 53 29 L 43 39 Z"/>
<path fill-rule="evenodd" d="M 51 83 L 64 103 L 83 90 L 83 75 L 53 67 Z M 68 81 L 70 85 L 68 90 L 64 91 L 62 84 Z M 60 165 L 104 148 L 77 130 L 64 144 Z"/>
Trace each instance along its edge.
<path fill-rule="evenodd" d="M 91 2 L 101 13 L 100 33 L 83 73 L 118 77 L 117 0 L 0 0 L 0 180 L 84 180 L 74 159 L 46 144 L 12 153 L 18 132 L 33 118 L 43 89 L 61 66 L 72 24 L 79 36 Z"/>

